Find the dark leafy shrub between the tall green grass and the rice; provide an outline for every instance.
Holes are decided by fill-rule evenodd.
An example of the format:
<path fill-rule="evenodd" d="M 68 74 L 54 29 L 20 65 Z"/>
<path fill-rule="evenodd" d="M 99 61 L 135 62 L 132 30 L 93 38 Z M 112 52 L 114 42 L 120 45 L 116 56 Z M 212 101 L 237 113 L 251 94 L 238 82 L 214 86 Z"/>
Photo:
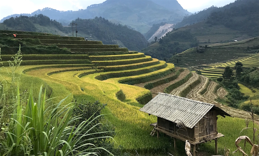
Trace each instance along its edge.
<path fill-rule="evenodd" d="M 91 133 L 91 135 L 87 135 L 82 137 L 82 140 L 88 140 L 88 143 L 94 144 L 96 147 L 105 147 L 108 151 L 114 151 L 113 145 L 110 143 L 110 139 L 106 139 L 107 136 L 114 137 L 115 136 L 115 127 L 108 121 L 104 120 L 104 116 L 101 115 L 101 111 L 105 108 L 106 104 L 100 103 L 100 101 L 95 101 L 94 103 L 90 103 L 86 100 L 81 100 L 79 104 L 73 110 L 73 117 L 80 116 L 78 120 L 75 120 L 71 126 L 78 127 L 80 123 L 85 120 L 91 118 L 95 119 L 92 123 L 89 124 L 89 127 L 93 127 L 90 129 L 82 130 L 82 133 Z M 100 122 L 104 122 L 104 124 L 100 124 Z M 89 132 L 88 132 L 89 131 Z M 95 139 L 93 139 L 95 138 Z M 89 148 L 89 146 L 82 146 L 79 150 L 84 150 L 85 148 Z M 96 151 L 96 150 L 93 150 Z M 110 156 L 110 153 L 105 150 L 100 150 L 101 156 Z"/>

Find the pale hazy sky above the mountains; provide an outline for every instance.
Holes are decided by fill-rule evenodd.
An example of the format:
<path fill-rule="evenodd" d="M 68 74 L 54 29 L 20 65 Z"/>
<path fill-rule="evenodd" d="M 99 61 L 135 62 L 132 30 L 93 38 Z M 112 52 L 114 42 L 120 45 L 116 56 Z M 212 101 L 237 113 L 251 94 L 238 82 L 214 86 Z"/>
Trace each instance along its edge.
<path fill-rule="evenodd" d="M 0 19 L 3 17 L 20 14 L 32 13 L 45 7 L 60 11 L 86 9 L 91 4 L 99 4 L 105 0 L 1 0 Z M 159 0 L 158 0 L 159 1 Z M 196 12 L 214 6 L 224 6 L 235 0 L 178 0 L 184 9 L 189 12 Z"/>

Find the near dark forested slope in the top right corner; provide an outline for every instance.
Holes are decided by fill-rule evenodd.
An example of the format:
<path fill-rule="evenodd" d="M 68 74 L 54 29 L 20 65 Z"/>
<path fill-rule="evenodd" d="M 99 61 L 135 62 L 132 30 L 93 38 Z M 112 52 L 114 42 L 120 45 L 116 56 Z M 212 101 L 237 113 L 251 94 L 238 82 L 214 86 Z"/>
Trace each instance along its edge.
<path fill-rule="evenodd" d="M 224 25 L 255 37 L 259 35 L 258 8 L 258 0 L 238 0 L 211 13 L 207 22 L 211 25 Z"/>

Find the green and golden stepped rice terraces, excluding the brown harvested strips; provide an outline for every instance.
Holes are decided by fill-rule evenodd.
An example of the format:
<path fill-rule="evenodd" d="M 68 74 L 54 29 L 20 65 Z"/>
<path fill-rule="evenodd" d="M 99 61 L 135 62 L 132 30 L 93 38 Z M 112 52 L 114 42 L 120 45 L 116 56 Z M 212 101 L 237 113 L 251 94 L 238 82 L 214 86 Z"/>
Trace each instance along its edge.
<path fill-rule="evenodd" d="M 31 52 L 22 55 L 22 79 L 26 81 L 21 82 L 21 88 L 25 90 L 30 88 L 31 83 L 35 86 L 43 83 L 51 92 L 49 97 L 62 99 L 72 93 L 71 98 L 74 99 L 107 103 L 104 114 L 111 113 L 107 119 L 118 130 L 115 140 L 124 150 L 148 150 L 154 147 L 159 150 L 168 146 L 162 140 L 156 143 L 155 138 L 149 137 L 149 124 L 155 122 L 155 117 L 138 111 L 142 104 L 151 100 L 151 93 L 131 85 L 174 73 L 172 63 L 153 59 L 137 51 L 128 51 L 118 45 L 103 45 L 100 41 L 85 41 L 83 38 L 17 34 L 13 40 L 28 38 L 39 40 L 47 47 L 67 48 L 70 53 L 35 55 Z M 21 51 L 23 53 L 23 48 Z M 1 58 L 4 66 L 8 66 L 11 55 L 1 55 Z"/>

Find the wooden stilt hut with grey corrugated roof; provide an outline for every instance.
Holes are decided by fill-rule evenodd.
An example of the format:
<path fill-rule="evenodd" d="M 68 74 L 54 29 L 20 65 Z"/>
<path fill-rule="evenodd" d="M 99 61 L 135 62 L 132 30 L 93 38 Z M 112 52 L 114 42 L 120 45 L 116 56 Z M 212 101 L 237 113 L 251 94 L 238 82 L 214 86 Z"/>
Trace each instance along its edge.
<path fill-rule="evenodd" d="M 174 138 L 174 147 L 175 139 L 188 140 L 193 151 L 197 144 L 215 140 L 216 153 L 217 139 L 224 136 L 217 132 L 217 115 L 230 116 L 213 104 L 166 93 L 159 93 L 140 111 L 157 116 L 150 135 L 165 133 Z"/>

